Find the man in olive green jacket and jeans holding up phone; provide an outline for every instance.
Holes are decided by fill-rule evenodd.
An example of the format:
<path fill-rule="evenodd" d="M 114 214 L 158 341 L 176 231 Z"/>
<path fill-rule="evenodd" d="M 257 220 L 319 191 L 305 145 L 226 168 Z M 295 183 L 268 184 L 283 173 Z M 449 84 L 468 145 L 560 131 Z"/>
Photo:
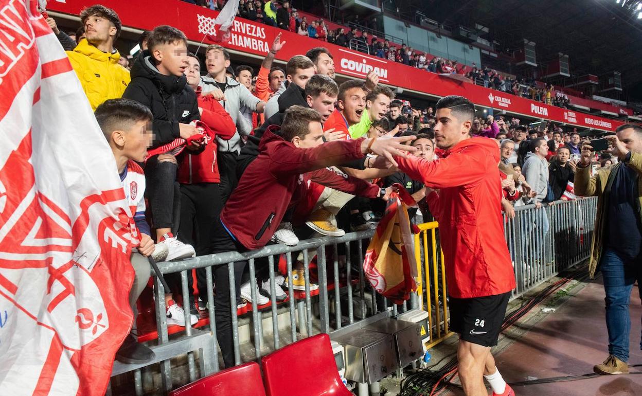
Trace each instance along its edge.
<path fill-rule="evenodd" d="M 611 146 L 607 151 L 620 162 L 591 176 L 593 147 L 584 142 L 575 193 L 598 196 L 589 271 L 591 278 L 598 268 L 602 271 L 609 357 L 594 371 L 628 374 L 629 303 L 636 280 L 642 297 L 642 126 L 622 125 L 615 136 L 606 138 Z"/>

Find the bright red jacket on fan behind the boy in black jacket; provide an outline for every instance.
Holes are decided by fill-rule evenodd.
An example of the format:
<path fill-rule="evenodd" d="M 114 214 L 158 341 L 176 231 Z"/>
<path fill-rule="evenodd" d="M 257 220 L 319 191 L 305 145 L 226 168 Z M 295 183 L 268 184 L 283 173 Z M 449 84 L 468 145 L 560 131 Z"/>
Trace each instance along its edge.
<path fill-rule="evenodd" d="M 200 87 L 196 89 L 198 107 L 203 109 L 201 121 L 221 139 L 230 139 L 236 133 L 236 125 L 225 108 L 213 96 L 202 96 Z M 221 175 L 216 164 L 216 139 L 207 139 L 205 150 L 198 155 L 187 154 L 178 166 L 180 184 L 220 183 Z M 186 152 L 189 152 L 186 150 Z"/>

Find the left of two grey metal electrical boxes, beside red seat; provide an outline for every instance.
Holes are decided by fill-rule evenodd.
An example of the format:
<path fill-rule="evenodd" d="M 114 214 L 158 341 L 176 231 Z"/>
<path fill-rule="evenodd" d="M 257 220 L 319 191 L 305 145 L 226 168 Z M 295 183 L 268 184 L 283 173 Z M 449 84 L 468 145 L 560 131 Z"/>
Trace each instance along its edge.
<path fill-rule="evenodd" d="M 395 341 L 390 334 L 357 329 L 334 338 L 345 350 L 345 378 L 372 384 L 399 368 Z"/>

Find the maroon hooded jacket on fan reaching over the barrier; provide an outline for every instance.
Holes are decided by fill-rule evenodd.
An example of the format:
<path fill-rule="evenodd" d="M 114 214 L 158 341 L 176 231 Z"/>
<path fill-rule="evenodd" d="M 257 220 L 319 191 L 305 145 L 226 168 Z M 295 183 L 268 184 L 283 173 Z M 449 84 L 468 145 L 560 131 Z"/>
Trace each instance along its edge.
<path fill-rule="evenodd" d="M 290 202 L 296 203 L 305 193 L 308 176 L 314 182 L 345 193 L 367 198 L 376 198 L 379 194 L 377 185 L 326 169 L 362 158 L 363 139 L 333 141 L 302 149 L 272 133 L 278 128 L 272 125 L 266 130 L 258 157 L 245 169 L 221 212 L 225 228 L 250 250 L 270 241 Z M 308 172 L 304 178 L 303 174 Z"/>

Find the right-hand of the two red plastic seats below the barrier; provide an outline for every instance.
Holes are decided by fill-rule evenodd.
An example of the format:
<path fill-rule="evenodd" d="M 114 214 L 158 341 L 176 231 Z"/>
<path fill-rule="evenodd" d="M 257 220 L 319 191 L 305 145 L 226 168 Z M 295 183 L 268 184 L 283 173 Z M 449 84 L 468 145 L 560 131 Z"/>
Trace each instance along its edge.
<path fill-rule="evenodd" d="M 352 396 L 339 377 L 327 334 L 282 347 L 261 361 L 268 396 Z"/>

